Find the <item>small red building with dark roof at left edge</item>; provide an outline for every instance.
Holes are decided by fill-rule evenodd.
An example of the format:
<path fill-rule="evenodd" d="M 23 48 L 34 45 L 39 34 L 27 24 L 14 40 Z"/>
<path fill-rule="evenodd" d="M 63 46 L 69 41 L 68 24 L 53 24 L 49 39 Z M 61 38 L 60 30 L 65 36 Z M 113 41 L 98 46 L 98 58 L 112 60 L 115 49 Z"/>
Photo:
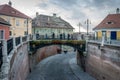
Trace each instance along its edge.
<path fill-rule="evenodd" d="M 0 18 L 0 39 L 8 40 L 10 38 L 9 29 L 10 24 L 4 19 Z"/>

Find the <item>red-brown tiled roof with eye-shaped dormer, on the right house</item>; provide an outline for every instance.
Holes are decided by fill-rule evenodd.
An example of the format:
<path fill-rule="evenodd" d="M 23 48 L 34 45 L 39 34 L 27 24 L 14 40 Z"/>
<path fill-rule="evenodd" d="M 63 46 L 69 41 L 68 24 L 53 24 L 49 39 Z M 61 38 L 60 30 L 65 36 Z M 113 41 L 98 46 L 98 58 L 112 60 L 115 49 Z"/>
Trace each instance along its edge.
<path fill-rule="evenodd" d="M 120 29 L 120 14 L 109 14 L 93 30 L 99 29 Z"/>

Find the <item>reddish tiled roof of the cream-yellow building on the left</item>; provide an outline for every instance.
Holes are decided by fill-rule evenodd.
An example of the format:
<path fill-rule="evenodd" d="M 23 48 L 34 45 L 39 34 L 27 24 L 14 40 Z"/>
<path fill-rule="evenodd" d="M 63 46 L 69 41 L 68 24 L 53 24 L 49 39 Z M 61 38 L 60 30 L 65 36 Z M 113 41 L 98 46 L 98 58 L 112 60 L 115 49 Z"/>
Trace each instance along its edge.
<path fill-rule="evenodd" d="M 12 16 L 12 17 L 25 18 L 25 19 L 30 18 L 29 16 L 23 14 L 22 12 L 16 10 L 15 8 L 7 4 L 0 5 L 0 14 Z"/>

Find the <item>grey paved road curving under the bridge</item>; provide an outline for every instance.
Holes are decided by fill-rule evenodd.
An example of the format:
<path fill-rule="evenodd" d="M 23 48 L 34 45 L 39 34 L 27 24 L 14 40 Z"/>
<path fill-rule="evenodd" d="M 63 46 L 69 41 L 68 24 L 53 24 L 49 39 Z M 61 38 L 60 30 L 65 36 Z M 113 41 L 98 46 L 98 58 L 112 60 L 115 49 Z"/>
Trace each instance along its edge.
<path fill-rule="evenodd" d="M 62 53 L 44 59 L 27 80 L 79 80 L 69 66 L 70 59 L 74 57 L 74 53 Z"/>

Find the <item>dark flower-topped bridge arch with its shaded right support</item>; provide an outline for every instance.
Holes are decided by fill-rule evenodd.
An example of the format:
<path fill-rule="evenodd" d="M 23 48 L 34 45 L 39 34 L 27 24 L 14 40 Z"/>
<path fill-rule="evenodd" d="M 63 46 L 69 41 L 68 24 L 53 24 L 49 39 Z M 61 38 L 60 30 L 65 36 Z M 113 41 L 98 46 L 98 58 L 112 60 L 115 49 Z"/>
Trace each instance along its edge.
<path fill-rule="evenodd" d="M 45 46 L 50 45 L 66 45 L 71 46 L 77 50 L 77 58 L 79 57 L 80 60 L 77 59 L 77 64 L 82 67 L 85 71 L 85 48 L 86 42 L 83 40 L 39 40 L 39 41 L 30 41 L 30 52 L 36 53 L 38 49 L 43 48 Z"/>

